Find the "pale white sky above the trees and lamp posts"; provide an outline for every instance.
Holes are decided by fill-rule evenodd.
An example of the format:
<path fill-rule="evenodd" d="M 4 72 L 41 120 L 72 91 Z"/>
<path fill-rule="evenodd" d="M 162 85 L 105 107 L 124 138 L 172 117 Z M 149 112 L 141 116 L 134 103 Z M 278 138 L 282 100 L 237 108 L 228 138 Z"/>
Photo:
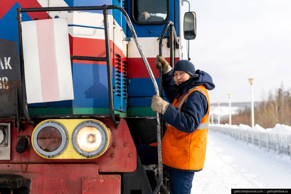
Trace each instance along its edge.
<path fill-rule="evenodd" d="M 210 101 L 261 101 L 283 83 L 291 88 L 291 1 L 190 1 L 197 16 L 197 35 L 190 40 L 190 58 L 196 69 L 208 72 L 216 85 Z M 183 14 L 188 3 L 182 6 Z M 187 57 L 183 41 L 183 59 Z"/>

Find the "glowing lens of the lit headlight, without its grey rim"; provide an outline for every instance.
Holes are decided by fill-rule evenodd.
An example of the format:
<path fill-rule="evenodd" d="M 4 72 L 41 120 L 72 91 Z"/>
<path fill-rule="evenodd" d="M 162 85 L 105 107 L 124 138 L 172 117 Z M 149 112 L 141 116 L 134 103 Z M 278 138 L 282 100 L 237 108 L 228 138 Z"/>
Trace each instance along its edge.
<path fill-rule="evenodd" d="M 81 150 L 85 152 L 93 152 L 100 146 L 102 136 L 97 128 L 86 126 L 80 129 L 76 141 Z"/>

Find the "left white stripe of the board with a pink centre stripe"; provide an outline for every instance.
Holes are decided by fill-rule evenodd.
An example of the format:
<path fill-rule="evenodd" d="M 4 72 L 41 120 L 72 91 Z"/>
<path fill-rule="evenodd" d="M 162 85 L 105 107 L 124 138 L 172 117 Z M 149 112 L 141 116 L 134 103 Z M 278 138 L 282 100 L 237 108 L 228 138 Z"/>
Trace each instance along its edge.
<path fill-rule="evenodd" d="M 22 22 L 22 44 L 27 103 L 42 102 L 36 21 Z"/>

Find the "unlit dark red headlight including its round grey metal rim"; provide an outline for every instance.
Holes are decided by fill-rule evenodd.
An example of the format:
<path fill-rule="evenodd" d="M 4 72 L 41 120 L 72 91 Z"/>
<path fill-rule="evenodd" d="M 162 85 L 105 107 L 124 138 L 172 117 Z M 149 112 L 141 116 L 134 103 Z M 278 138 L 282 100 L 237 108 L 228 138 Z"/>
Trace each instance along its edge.
<path fill-rule="evenodd" d="M 47 158 L 60 155 L 68 145 L 66 128 L 56 121 L 45 121 L 33 133 L 36 152 Z"/>

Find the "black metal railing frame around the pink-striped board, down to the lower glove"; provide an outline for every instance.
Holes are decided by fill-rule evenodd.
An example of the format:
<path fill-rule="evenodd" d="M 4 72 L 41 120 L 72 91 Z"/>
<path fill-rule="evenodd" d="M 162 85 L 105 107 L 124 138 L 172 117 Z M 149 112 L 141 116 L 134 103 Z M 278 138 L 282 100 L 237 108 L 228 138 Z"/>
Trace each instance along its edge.
<path fill-rule="evenodd" d="M 111 121 L 117 127 L 119 121 L 116 120 L 114 116 L 114 107 L 113 107 L 113 88 L 112 88 L 112 75 L 111 75 L 111 60 L 110 60 L 110 47 L 109 47 L 109 33 L 108 33 L 108 9 L 118 9 L 120 10 L 123 15 L 125 16 L 126 22 L 128 27 L 133 35 L 133 39 L 136 42 L 136 46 L 141 54 L 143 62 L 145 63 L 145 67 L 150 75 L 150 78 L 153 82 L 155 87 L 155 93 L 158 95 L 158 84 L 155 81 L 153 76 L 153 72 L 150 69 L 148 61 L 143 53 L 141 48 L 141 44 L 138 41 L 136 32 L 133 29 L 132 23 L 129 19 L 128 14 L 126 11 L 121 8 L 120 6 L 116 5 L 103 5 L 103 6 L 77 6 L 77 7 L 40 7 L 40 8 L 20 8 L 16 9 L 17 12 L 17 22 L 18 22 L 18 39 L 19 39 L 19 57 L 20 57 L 20 67 L 21 67 L 21 91 L 22 91 L 22 98 L 21 104 L 24 110 L 24 116 L 29 125 L 34 125 L 34 122 L 31 121 L 30 116 L 28 114 L 28 107 L 27 107 L 27 100 L 26 100 L 26 85 L 25 85 L 25 76 L 24 76 L 24 60 L 23 60 L 23 46 L 22 46 L 22 35 L 21 35 L 21 19 L 22 19 L 22 12 L 36 12 L 36 11 L 84 11 L 84 10 L 103 10 L 104 16 L 104 30 L 105 30 L 105 44 L 106 44 L 106 57 L 88 57 L 88 56 L 71 56 L 71 59 L 76 60 L 90 60 L 90 61 L 106 61 L 107 63 L 107 77 L 108 77 L 108 94 L 109 94 L 109 109 L 111 115 Z M 158 123 L 160 123 L 158 121 Z M 160 124 L 159 124 L 160 125 Z"/>

